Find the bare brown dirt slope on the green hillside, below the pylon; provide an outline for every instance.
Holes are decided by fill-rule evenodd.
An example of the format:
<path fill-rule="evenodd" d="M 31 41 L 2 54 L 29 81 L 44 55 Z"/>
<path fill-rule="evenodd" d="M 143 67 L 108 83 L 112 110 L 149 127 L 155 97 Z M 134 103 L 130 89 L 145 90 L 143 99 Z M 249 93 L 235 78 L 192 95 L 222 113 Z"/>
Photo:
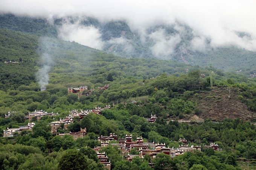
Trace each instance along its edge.
<path fill-rule="evenodd" d="M 201 113 L 198 115 L 203 119 L 213 121 L 223 120 L 225 118 L 253 122 L 256 120 L 256 113 L 247 110 L 247 105 L 238 99 L 239 89 L 225 87 L 213 87 L 211 91 L 198 93 L 192 96 L 191 100 L 197 102 L 197 108 Z M 229 97 L 230 96 L 230 97 Z"/>

